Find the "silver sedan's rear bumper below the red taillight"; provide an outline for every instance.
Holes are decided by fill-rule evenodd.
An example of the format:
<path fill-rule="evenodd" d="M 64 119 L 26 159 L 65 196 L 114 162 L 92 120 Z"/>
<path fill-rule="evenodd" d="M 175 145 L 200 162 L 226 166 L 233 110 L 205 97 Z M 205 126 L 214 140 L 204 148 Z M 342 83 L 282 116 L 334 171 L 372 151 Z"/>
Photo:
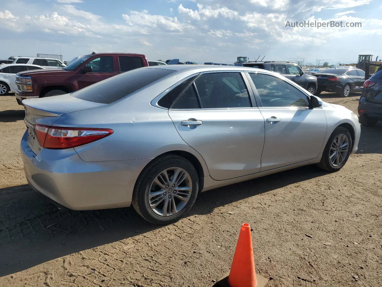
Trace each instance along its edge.
<path fill-rule="evenodd" d="M 21 139 L 21 158 L 28 183 L 57 204 L 74 210 L 127 207 L 144 166 L 151 159 L 86 162 L 73 148 L 42 149 L 36 155 Z"/>

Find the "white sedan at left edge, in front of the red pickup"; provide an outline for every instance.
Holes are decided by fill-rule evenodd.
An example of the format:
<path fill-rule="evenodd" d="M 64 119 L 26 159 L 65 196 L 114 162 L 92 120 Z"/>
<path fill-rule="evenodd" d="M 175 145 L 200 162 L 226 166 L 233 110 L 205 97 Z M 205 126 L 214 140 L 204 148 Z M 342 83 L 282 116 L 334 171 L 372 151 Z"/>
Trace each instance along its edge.
<path fill-rule="evenodd" d="M 17 90 L 16 74 L 23 71 L 44 69 L 37 65 L 3 64 L 0 65 L 0 96 Z"/>

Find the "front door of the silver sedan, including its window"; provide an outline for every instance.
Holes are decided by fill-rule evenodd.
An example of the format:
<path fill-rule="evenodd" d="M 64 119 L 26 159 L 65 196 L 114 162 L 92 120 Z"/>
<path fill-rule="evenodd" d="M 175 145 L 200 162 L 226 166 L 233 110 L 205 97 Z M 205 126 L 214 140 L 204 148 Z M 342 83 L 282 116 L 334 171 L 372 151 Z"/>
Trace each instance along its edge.
<path fill-rule="evenodd" d="M 327 129 L 324 110 L 309 109 L 307 95 L 282 78 L 249 75 L 265 119 L 261 171 L 317 158 Z"/>

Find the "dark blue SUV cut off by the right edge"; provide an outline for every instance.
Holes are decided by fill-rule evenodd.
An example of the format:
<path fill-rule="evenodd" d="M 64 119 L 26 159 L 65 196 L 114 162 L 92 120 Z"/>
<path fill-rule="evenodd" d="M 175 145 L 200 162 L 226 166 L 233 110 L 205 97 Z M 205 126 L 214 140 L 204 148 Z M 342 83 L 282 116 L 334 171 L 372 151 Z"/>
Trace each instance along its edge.
<path fill-rule="evenodd" d="M 360 124 L 366 127 L 382 121 L 382 70 L 364 82 L 358 114 Z"/>

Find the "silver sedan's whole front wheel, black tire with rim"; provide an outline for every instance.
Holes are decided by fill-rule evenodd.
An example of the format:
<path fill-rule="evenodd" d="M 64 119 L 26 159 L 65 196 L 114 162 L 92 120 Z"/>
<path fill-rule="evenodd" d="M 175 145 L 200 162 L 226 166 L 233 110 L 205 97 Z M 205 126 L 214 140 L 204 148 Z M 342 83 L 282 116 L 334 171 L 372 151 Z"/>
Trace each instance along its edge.
<path fill-rule="evenodd" d="M 345 136 L 346 138 L 343 138 L 343 136 Z M 343 148 L 341 148 L 341 146 L 338 147 L 338 141 L 340 141 L 341 143 L 342 139 L 343 139 L 343 143 L 341 146 L 343 146 L 347 142 L 346 153 L 345 153 L 346 147 L 343 147 Z M 345 165 L 346 161 L 348 161 L 352 147 L 353 147 L 353 142 L 352 142 L 349 130 L 346 129 L 345 127 L 337 127 L 330 135 L 329 140 L 325 145 L 324 152 L 322 153 L 321 161 L 317 165 L 319 166 L 319 168 L 322 168 L 323 170 L 327 170 L 327 171 L 340 170 Z M 338 150 L 343 150 L 343 152 L 340 152 L 341 155 L 338 155 L 339 153 Z M 337 158 L 338 158 L 338 161 L 337 161 Z"/>

